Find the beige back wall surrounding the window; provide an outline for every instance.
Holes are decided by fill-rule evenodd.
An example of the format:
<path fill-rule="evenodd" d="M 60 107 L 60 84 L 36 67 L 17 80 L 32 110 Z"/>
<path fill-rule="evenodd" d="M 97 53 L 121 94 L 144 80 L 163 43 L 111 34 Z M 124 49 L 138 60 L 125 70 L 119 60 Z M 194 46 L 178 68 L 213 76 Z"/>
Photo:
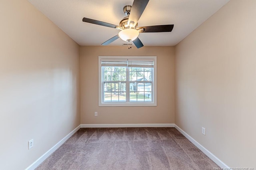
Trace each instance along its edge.
<path fill-rule="evenodd" d="M 157 107 L 99 107 L 99 55 L 156 55 Z M 80 75 L 81 124 L 174 123 L 174 47 L 82 46 Z"/>

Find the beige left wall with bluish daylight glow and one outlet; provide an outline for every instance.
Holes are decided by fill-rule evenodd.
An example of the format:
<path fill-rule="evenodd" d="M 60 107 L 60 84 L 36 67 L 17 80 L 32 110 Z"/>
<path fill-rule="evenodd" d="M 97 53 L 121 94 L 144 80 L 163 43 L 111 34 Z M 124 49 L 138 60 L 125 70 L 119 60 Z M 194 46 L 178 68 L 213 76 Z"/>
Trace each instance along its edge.
<path fill-rule="evenodd" d="M 28 1 L 0 4 L 0 169 L 24 170 L 80 125 L 79 45 Z"/>

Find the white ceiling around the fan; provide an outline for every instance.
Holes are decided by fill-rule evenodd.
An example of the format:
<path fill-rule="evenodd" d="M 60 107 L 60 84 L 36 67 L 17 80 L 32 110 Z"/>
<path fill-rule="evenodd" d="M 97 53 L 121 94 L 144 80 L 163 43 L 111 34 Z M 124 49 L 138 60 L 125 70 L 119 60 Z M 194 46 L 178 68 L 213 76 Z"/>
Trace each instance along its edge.
<path fill-rule="evenodd" d="M 100 45 L 119 30 L 82 22 L 91 18 L 118 25 L 133 0 L 28 0 L 79 45 Z M 141 33 L 144 46 L 174 46 L 229 0 L 150 0 L 138 27 L 174 24 L 172 32 Z M 109 45 L 126 43 L 118 39 Z"/>

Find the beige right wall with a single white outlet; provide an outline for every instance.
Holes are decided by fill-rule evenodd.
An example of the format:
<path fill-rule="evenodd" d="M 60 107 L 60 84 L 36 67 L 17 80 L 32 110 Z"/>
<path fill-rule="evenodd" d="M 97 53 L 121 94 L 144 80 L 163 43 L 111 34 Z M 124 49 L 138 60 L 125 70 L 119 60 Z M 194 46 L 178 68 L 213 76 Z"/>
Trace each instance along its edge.
<path fill-rule="evenodd" d="M 228 166 L 254 169 L 255 9 L 231 0 L 175 48 L 176 125 Z"/>

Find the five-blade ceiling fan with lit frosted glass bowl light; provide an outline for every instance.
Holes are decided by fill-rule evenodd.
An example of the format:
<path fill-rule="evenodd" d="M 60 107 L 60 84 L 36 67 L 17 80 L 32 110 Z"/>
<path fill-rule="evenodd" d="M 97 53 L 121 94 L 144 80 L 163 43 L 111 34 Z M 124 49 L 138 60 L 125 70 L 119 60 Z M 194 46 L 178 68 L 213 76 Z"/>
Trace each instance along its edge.
<path fill-rule="evenodd" d="M 110 38 L 106 42 L 102 43 L 101 45 L 108 45 L 109 43 L 114 42 L 118 38 L 121 38 L 125 42 L 128 42 L 129 48 L 131 48 L 131 43 L 133 42 L 137 48 L 143 47 L 144 45 L 138 38 L 140 33 L 144 32 L 171 32 L 173 29 L 172 25 L 159 25 L 159 26 L 144 26 L 144 27 L 137 27 L 138 20 L 140 16 L 144 12 L 149 0 L 134 0 L 132 6 L 127 5 L 124 6 L 124 17 L 121 21 L 119 26 L 114 24 L 109 24 L 106 22 L 93 20 L 90 18 L 83 18 L 83 22 L 88 22 L 91 24 L 97 24 L 100 26 L 106 26 L 110 28 L 115 28 L 117 30 L 121 30 L 118 35 Z"/>

